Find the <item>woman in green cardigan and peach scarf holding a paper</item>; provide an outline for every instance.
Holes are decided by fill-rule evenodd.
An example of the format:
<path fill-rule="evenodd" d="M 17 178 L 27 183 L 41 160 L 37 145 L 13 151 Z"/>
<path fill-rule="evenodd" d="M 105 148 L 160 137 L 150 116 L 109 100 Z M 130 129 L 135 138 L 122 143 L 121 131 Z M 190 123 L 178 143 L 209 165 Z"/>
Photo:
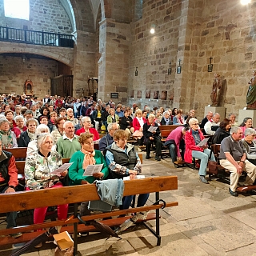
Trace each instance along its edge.
<path fill-rule="evenodd" d="M 81 150 L 75 152 L 70 158 L 70 162 L 73 162 L 69 168 L 70 185 L 93 183 L 96 179 L 106 179 L 109 175 L 109 169 L 101 151 L 94 150 L 93 137 L 94 134 L 86 132 L 80 134 L 78 138 Z M 93 174 L 93 176 L 82 176 L 87 166 L 95 164 L 103 164 L 101 172 Z M 88 202 L 82 202 L 80 209 L 82 216 L 90 214 L 87 206 Z"/>

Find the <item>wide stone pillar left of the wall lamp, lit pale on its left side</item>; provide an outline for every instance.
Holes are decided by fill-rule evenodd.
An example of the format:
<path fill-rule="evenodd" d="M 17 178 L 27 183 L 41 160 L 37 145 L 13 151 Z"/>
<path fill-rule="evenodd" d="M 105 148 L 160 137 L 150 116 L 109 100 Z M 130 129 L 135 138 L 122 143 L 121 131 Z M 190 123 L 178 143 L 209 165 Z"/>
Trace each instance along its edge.
<path fill-rule="evenodd" d="M 111 93 L 118 93 L 113 102 L 127 102 L 130 58 L 130 24 L 106 18 L 100 22 L 98 61 L 98 98 L 110 100 Z"/>

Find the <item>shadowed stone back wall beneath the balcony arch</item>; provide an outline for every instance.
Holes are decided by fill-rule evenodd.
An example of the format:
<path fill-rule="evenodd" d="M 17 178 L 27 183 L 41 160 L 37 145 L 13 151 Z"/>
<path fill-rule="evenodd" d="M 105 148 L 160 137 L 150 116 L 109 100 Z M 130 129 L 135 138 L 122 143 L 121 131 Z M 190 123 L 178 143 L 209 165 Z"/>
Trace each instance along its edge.
<path fill-rule="evenodd" d="M 34 94 L 42 97 L 50 90 L 50 78 L 58 72 L 58 62 L 50 59 L 22 58 L 0 55 L 0 93 L 24 93 L 24 82 L 30 79 Z"/>

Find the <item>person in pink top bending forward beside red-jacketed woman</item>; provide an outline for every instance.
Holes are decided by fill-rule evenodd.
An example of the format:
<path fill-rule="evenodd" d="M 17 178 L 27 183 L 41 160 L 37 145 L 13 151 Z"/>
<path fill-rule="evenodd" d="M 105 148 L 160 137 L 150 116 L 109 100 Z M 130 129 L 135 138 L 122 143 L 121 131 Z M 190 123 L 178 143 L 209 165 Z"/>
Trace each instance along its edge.
<path fill-rule="evenodd" d="M 172 158 L 172 162 L 175 162 L 177 160 L 182 161 L 184 159 L 184 135 L 186 134 L 186 131 L 189 129 L 189 126 L 178 126 L 176 129 L 171 131 L 168 137 L 166 138 L 165 146 L 169 147 L 170 158 Z"/>

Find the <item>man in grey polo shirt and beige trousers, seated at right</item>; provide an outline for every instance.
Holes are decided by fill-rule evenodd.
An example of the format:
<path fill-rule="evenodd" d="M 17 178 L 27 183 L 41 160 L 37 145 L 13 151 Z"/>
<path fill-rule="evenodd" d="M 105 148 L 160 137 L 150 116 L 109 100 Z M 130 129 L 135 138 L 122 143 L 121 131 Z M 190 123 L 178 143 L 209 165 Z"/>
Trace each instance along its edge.
<path fill-rule="evenodd" d="M 242 147 L 242 130 L 233 126 L 230 130 L 230 136 L 222 140 L 221 150 L 218 158 L 222 167 L 230 171 L 230 194 L 238 196 L 236 192 L 239 177 L 242 170 L 246 171 L 245 186 L 253 185 L 256 177 L 256 166 L 246 160 L 246 151 Z"/>

